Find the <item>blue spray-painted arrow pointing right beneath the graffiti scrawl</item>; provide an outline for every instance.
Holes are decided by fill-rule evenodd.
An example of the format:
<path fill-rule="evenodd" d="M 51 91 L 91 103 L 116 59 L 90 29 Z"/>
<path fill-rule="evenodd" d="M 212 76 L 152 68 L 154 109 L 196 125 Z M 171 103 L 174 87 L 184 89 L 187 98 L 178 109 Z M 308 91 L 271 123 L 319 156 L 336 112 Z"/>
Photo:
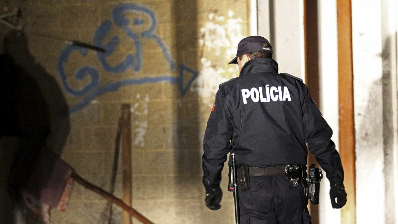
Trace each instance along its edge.
<path fill-rule="evenodd" d="M 190 73 L 190 77 L 185 75 Z M 83 100 L 78 102 L 78 104 L 72 106 L 69 110 L 70 114 L 77 112 L 78 110 L 84 108 L 90 102 L 92 102 L 96 97 L 105 94 L 107 92 L 115 92 L 122 86 L 127 85 L 139 85 L 145 83 L 159 83 L 159 82 L 169 82 L 170 84 L 179 84 L 179 92 L 181 96 L 184 96 L 187 90 L 191 87 L 191 84 L 199 75 L 198 71 L 190 69 L 186 65 L 180 65 L 179 67 L 179 77 L 173 76 L 158 76 L 158 77 L 145 77 L 141 79 L 125 79 L 121 81 L 116 81 L 113 83 L 108 83 L 104 86 L 98 87 L 92 92 L 90 92 L 87 96 L 84 97 Z"/>

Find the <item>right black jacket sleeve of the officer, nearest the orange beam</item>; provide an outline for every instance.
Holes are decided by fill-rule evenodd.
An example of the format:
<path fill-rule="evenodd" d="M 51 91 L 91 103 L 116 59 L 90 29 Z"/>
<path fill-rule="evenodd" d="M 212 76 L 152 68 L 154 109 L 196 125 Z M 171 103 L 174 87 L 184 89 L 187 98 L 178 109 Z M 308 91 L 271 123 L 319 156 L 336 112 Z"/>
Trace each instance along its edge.
<path fill-rule="evenodd" d="M 308 87 L 303 84 L 302 115 L 304 136 L 308 149 L 315 154 L 316 161 L 326 172 L 330 184 L 343 183 L 344 171 L 336 145 L 332 138 L 332 129 L 322 117 L 321 112 L 311 98 Z"/>

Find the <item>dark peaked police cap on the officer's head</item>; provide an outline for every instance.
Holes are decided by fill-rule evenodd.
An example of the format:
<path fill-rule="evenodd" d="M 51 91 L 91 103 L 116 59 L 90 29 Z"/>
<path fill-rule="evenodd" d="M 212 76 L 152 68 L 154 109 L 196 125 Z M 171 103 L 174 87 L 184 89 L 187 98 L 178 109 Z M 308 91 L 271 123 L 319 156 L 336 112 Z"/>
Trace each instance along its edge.
<path fill-rule="evenodd" d="M 263 47 L 261 46 L 261 43 L 268 43 L 269 47 Z M 229 64 L 238 64 L 238 56 L 239 55 L 244 55 L 250 52 L 254 51 L 268 51 L 272 53 L 272 47 L 271 44 L 268 42 L 267 39 L 264 37 L 260 36 L 250 36 L 243 38 L 239 43 L 238 43 L 238 51 L 236 51 L 236 57 L 232 59 L 232 61 Z"/>

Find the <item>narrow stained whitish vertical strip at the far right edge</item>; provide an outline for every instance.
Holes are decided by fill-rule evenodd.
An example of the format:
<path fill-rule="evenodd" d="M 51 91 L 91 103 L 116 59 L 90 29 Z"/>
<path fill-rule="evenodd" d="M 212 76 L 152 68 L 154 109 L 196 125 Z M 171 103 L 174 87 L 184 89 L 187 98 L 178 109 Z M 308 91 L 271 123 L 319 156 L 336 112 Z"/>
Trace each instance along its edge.
<path fill-rule="evenodd" d="M 397 123 L 397 5 L 381 2 L 383 145 L 385 223 L 397 223 L 398 123 Z"/>

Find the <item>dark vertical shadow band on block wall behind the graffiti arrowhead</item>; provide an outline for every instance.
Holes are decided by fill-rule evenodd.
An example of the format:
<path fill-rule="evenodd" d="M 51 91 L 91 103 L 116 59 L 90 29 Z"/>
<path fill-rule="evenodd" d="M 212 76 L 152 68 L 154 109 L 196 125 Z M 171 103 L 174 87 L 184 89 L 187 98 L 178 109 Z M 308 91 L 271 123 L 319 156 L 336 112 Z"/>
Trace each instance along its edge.
<path fill-rule="evenodd" d="M 176 27 L 176 64 L 184 64 L 198 70 L 197 0 L 175 1 L 173 12 Z M 192 74 L 184 73 L 189 80 Z M 183 83 L 185 86 L 185 83 Z M 176 105 L 176 153 L 175 166 L 177 185 L 186 183 L 187 178 L 201 178 L 202 143 L 199 142 L 200 114 L 197 92 L 187 90 L 184 96 L 179 92 Z M 196 186 L 201 187 L 201 186 Z"/>

